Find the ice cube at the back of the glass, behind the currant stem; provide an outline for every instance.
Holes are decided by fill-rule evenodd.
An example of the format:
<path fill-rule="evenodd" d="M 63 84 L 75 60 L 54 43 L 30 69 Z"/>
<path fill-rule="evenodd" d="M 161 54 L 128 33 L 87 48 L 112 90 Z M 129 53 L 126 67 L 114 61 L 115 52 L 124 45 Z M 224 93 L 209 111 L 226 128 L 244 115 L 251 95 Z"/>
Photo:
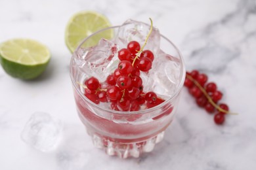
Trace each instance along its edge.
<path fill-rule="evenodd" d="M 138 22 L 135 20 L 127 20 L 117 32 L 116 43 L 120 48 L 126 48 L 130 41 L 138 41 L 142 46 L 146 40 L 146 36 L 150 31 L 150 24 Z M 152 33 L 144 47 L 144 50 L 152 50 L 154 54 L 160 50 L 160 32 L 153 27 Z"/>

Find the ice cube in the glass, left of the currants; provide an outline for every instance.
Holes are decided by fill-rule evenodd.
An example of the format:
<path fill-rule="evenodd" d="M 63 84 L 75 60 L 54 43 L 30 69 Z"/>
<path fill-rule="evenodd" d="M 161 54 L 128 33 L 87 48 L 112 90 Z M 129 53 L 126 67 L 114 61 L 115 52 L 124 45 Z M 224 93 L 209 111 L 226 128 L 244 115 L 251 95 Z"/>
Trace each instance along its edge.
<path fill-rule="evenodd" d="M 75 67 L 85 75 L 95 76 L 104 82 L 109 73 L 113 73 L 118 64 L 117 45 L 106 39 L 100 39 L 96 46 L 81 48 L 75 54 Z"/>

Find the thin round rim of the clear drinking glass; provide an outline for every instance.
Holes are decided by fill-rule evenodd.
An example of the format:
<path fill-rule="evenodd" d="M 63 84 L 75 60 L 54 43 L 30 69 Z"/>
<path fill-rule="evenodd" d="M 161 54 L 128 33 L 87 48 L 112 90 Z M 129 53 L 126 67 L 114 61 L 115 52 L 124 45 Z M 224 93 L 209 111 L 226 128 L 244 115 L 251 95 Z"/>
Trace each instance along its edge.
<path fill-rule="evenodd" d="M 125 24 L 125 25 L 127 25 L 127 24 Z M 95 31 L 95 33 L 92 33 L 91 35 L 89 35 L 88 37 L 83 39 L 83 41 L 81 41 L 79 46 L 77 46 L 77 48 L 75 49 L 74 53 L 77 52 L 77 50 L 79 50 L 79 48 L 81 48 L 81 46 L 83 45 L 83 43 L 85 41 L 87 41 L 87 39 L 90 39 L 91 37 L 93 37 L 93 35 L 95 35 L 97 33 L 100 33 L 102 31 L 105 31 L 107 29 L 115 29 L 115 28 L 121 27 L 121 26 L 123 26 L 123 25 L 116 25 L 116 26 L 112 26 L 112 27 L 106 27 L 104 29 L 100 29 L 98 31 Z M 118 110 L 112 110 L 112 109 L 104 109 L 104 108 L 100 107 L 99 105 L 97 105 L 96 103 L 93 103 L 93 101 L 91 101 L 87 97 L 85 97 L 85 95 L 83 95 L 81 90 L 79 90 L 79 88 L 77 87 L 77 82 L 74 80 L 73 71 L 72 71 L 72 62 L 74 61 L 74 53 L 73 53 L 72 58 L 70 59 L 70 78 L 72 79 L 72 84 L 75 88 L 75 91 L 79 94 L 79 96 L 83 100 L 90 103 L 90 105 L 93 105 L 93 107 L 96 107 L 97 109 L 100 109 L 100 110 L 103 110 L 103 111 L 111 112 L 112 114 L 125 114 L 125 115 L 127 115 L 127 114 L 142 114 L 142 113 L 146 113 L 146 112 L 153 112 L 154 110 L 160 109 L 161 107 L 163 107 L 164 105 L 166 105 L 167 103 L 172 101 L 179 94 L 179 92 L 181 92 L 182 86 L 184 84 L 185 76 L 186 76 L 186 70 L 185 70 L 185 67 L 184 67 L 184 59 L 183 59 L 183 56 L 182 56 L 179 48 L 177 48 L 177 46 L 172 41 L 167 39 L 167 37 L 165 37 L 164 35 L 161 35 L 161 33 L 160 33 L 160 36 L 163 39 L 165 39 L 165 41 L 169 42 L 173 46 L 173 48 L 175 48 L 177 54 L 179 55 L 179 58 L 181 59 L 181 72 L 182 72 L 182 78 L 181 78 L 181 81 L 179 82 L 178 88 L 175 90 L 175 93 L 173 93 L 173 95 L 171 97 L 169 97 L 168 99 L 163 101 L 163 103 L 160 103 L 159 105 L 157 105 L 155 107 L 152 107 L 150 109 L 144 109 L 144 110 L 138 110 L 138 111 L 118 111 Z"/>

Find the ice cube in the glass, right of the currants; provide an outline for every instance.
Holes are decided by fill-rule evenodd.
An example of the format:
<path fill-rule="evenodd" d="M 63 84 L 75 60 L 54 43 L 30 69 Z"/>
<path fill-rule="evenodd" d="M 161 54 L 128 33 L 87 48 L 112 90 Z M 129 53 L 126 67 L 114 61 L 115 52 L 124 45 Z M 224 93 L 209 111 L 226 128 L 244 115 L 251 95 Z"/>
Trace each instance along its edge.
<path fill-rule="evenodd" d="M 181 61 L 162 50 L 156 54 L 152 69 L 142 73 L 145 92 L 156 92 L 163 98 L 175 93 L 181 80 Z"/>

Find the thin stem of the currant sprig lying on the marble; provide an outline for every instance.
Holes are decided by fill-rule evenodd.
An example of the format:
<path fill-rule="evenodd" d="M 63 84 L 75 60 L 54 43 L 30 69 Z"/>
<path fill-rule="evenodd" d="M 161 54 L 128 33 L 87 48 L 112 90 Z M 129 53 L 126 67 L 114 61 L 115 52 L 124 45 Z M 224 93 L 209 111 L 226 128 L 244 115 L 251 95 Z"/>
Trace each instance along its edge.
<path fill-rule="evenodd" d="M 217 110 L 224 112 L 226 114 L 237 114 L 237 113 L 229 112 L 228 110 L 224 110 L 221 107 L 219 107 L 218 105 L 216 105 L 216 103 L 214 103 L 214 101 L 211 99 L 211 97 L 205 91 L 205 89 L 201 86 L 201 84 L 199 84 L 198 81 L 195 80 L 192 76 L 186 74 L 186 78 L 192 80 L 192 82 L 194 82 L 194 84 L 196 84 L 196 86 L 198 86 L 198 88 L 201 90 L 201 92 L 203 92 L 203 95 L 205 95 L 205 97 L 208 99 L 209 103 L 211 103 L 211 105 L 213 105 L 213 107 L 215 107 Z"/>

